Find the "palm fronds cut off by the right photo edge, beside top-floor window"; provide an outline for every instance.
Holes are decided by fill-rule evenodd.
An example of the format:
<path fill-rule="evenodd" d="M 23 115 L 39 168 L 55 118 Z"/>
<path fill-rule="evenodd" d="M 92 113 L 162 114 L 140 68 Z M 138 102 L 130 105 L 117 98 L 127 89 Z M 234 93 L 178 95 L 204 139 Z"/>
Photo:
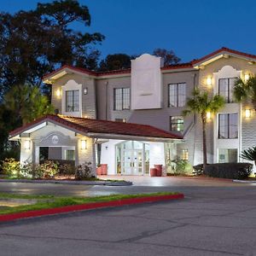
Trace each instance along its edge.
<path fill-rule="evenodd" d="M 250 101 L 256 109 L 256 77 L 250 77 L 247 82 L 236 79 L 234 85 L 234 96 L 237 102 Z"/>

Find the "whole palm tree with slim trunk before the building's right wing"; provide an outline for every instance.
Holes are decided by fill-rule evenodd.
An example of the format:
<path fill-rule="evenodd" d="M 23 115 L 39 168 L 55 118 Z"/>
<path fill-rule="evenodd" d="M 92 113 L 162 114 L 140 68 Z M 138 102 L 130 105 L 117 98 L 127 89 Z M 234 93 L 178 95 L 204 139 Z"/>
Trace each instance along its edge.
<path fill-rule="evenodd" d="M 203 169 L 207 166 L 207 112 L 217 113 L 220 108 L 224 107 L 224 97 L 215 95 L 212 98 L 207 91 L 201 92 L 198 88 L 193 90 L 191 98 L 188 99 L 186 109 L 183 115 L 189 113 L 199 114 L 202 123 L 203 139 Z"/>

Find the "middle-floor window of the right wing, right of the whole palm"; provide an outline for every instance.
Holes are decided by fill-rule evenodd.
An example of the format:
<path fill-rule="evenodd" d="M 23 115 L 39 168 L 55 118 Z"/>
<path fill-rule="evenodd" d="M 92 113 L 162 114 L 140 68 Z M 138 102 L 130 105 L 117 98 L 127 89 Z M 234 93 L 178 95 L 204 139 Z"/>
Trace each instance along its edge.
<path fill-rule="evenodd" d="M 238 115 L 237 113 L 218 114 L 218 138 L 237 138 L 238 137 Z"/>

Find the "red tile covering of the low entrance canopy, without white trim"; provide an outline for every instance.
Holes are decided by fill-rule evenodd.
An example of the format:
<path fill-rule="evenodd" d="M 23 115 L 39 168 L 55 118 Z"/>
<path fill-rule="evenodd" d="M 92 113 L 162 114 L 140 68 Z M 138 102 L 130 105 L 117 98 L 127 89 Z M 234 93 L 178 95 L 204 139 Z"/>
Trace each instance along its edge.
<path fill-rule="evenodd" d="M 65 127 L 71 128 L 75 131 L 81 131 L 83 133 L 100 133 L 100 134 L 114 134 L 125 136 L 137 136 L 137 137 L 155 137 L 166 139 L 182 139 L 183 137 L 173 134 L 168 131 L 163 131 L 155 128 L 151 125 L 139 125 L 132 123 L 120 123 L 107 120 L 98 119 L 84 119 L 71 116 L 61 115 L 46 115 L 43 118 L 36 119 L 30 124 L 21 126 L 9 133 L 10 137 L 15 137 L 20 133 L 35 127 L 41 123 L 52 121 L 56 125 L 60 124 Z"/>

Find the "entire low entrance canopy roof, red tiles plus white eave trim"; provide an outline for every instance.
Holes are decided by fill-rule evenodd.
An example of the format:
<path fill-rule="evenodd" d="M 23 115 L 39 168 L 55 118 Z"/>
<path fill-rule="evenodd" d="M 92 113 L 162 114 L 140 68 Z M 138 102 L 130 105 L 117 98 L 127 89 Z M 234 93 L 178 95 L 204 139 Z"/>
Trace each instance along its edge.
<path fill-rule="evenodd" d="M 134 139 L 154 142 L 170 142 L 170 140 L 183 139 L 183 137 L 177 134 L 160 130 L 151 125 L 120 123 L 62 115 L 46 115 L 43 118 L 36 119 L 28 125 L 11 131 L 9 133 L 9 139 L 19 140 L 24 135 L 29 137 L 30 133 L 42 129 L 44 126 L 49 125 L 49 123 L 91 138 Z"/>

